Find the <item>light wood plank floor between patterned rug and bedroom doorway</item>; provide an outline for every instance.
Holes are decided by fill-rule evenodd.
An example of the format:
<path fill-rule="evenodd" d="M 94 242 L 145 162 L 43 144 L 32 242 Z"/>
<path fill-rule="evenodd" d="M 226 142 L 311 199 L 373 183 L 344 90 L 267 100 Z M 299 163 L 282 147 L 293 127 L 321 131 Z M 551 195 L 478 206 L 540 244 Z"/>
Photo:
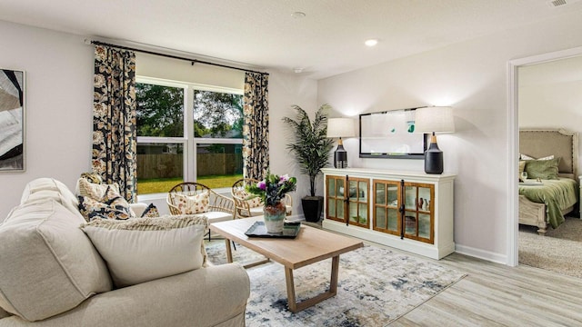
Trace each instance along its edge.
<path fill-rule="evenodd" d="M 435 262 L 468 275 L 390 326 L 582 326 L 582 279 L 458 253 Z"/>

